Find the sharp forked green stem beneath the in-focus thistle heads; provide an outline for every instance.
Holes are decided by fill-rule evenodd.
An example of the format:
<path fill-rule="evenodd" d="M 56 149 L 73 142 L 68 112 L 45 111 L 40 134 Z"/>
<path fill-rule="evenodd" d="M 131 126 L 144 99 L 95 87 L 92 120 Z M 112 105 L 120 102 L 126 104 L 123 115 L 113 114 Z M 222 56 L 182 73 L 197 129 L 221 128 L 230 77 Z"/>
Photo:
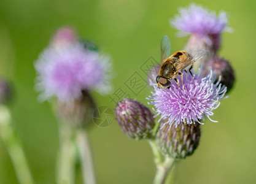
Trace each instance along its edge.
<path fill-rule="evenodd" d="M 157 172 L 155 174 L 155 178 L 153 180 L 154 184 L 163 184 L 165 183 L 165 179 L 168 176 L 169 171 L 173 167 L 175 163 L 175 159 L 166 157 L 165 161 L 162 161 L 161 154 L 155 144 L 154 140 L 149 140 L 149 144 L 153 151 L 155 165 L 157 166 Z"/>

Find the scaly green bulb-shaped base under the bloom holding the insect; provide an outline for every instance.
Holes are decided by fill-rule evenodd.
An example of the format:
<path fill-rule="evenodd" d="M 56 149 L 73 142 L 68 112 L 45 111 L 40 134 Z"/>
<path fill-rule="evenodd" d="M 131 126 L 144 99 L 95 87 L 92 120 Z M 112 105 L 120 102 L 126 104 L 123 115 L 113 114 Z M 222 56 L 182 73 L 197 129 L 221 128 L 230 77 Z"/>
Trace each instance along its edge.
<path fill-rule="evenodd" d="M 163 126 L 165 121 L 160 122 Z M 200 124 L 165 125 L 158 129 L 156 142 L 163 155 L 176 159 L 186 158 L 198 147 L 201 136 Z"/>

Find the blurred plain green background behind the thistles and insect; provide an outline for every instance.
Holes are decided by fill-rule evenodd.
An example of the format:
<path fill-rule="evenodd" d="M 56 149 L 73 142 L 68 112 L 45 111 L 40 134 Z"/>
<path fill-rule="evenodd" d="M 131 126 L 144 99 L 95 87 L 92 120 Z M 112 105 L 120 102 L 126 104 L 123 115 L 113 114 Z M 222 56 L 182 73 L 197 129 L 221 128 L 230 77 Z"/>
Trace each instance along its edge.
<path fill-rule="evenodd" d="M 93 40 L 114 64 L 114 90 L 122 86 L 147 104 L 149 88 L 134 96 L 125 81 L 150 57 L 160 58 L 160 40 L 167 34 L 172 50 L 187 37 L 177 38 L 169 18 L 191 1 L 0 1 L 0 74 L 15 88 L 11 111 L 36 183 L 55 182 L 58 123 L 51 104 L 39 103 L 34 91 L 34 60 L 60 26 L 72 26 L 80 37 Z M 214 120 L 202 128 L 195 154 L 180 161 L 179 183 L 255 183 L 255 18 L 253 0 L 194 1 L 211 10 L 225 10 L 234 33 L 223 33 L 220 56 L 236 72 L 230 98 L 216 109 Z M 113 91 L 114 92 L 114 91 Z M 109 96 L 94 93 L 98 105 L 114 108 Z M 155 166 L 145 140 L 123 134 L 114 121 L 107 128 L 91 126 L 90 140 L 98 183 L 152 183 Z M 0 139 L 0 183 L 18 183 Z M 81 183 L 81 176 L 77 176 Z"/>

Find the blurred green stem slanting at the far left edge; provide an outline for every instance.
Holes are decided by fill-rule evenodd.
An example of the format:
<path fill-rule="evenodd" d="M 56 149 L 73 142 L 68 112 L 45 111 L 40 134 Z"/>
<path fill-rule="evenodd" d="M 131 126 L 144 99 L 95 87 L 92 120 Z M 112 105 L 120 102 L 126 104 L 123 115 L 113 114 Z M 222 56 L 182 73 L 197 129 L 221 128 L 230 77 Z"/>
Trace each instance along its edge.
<path fill-rule="evenodd" d="M 24 151 L 11 125 L 9 109 L 4 105 L 0 105 L 0 133 L 10 155 L 10 159 L 12 160 L 12 164 L 14 165 L 18 182 L 21 184 L 33 184 L 33 178 Z"/>

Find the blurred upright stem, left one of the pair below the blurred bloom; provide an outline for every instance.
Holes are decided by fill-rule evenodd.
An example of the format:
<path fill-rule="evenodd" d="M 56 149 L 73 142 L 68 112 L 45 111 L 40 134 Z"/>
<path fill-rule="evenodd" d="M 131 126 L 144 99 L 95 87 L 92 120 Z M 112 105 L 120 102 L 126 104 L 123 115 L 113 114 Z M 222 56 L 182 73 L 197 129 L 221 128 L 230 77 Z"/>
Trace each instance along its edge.
<path fill-rule="evenodd" d="M 73 184 L 75 181 L 76 147 L 73 130 L 68 123 L 60 123 L 60 151 L 58 153 L 57 182 Z"/>

